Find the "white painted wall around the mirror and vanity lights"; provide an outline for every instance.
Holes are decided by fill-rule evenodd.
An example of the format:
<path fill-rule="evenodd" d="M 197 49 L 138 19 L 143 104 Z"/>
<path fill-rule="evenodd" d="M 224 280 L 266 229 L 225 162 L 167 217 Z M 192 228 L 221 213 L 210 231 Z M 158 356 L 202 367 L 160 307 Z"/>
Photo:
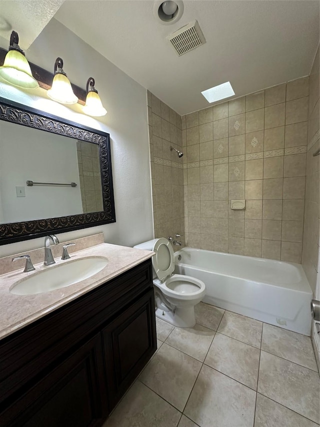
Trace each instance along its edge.
<path fill-rule="evenodd" d="M 0 39 L 7 49 L 7 42 Z M 106 242 L 133 246 L 153 236 L 149 148 L 145 89 L 99 55 L 81 39 L 52 19 L 25 52 L 38 66 L 52 70 L 59 56 L 72 83 L 85 88 L 95 79 L 107 115 L 99 121 L 46 98 L 45 91 L 24 92 L 0 84 L 0 96 L 110 134 L 116 223 L 58 235 L 61 241 L 102 231 Z M 42 96 L 41 96 L 42 95 Z M 0 247 L 0 255 L 38 248 L 43 239 Z"/>

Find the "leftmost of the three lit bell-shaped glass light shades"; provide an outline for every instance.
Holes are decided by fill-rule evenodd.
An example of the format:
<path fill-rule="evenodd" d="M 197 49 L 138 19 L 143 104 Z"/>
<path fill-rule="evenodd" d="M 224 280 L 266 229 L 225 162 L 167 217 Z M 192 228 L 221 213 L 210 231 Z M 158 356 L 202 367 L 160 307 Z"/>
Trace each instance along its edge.
<path fill-rule="evenodd" d="M 13 86 L 24 89 L 36 89 L 38 82 L 33 78 L 29 63 L 18 51 L 12 49 L 5 55 L 0 67 L 0 77 Z"/>

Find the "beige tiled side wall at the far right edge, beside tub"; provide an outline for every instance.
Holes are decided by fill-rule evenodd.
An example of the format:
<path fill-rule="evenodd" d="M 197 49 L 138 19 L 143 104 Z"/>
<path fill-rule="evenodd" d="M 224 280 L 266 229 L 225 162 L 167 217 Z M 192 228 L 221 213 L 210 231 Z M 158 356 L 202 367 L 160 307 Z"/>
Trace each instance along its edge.
<path fill-rule="evenodd" d="M 306 156 L 306 188 L 303 230 L 302 266 L 315 299 L 316 279 L 319 273 L 319 164 L 320 156 L 313 157 L 319 149 L 319 48 L 309 78 L 308 145 Z"/>

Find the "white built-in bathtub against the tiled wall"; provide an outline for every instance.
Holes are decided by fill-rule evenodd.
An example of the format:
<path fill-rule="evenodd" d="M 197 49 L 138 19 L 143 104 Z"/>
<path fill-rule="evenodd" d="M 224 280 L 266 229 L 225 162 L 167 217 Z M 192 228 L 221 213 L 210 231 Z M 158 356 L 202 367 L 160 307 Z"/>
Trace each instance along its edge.
<path fill-rule="evenodd" d="M 175 273 L 205 283 L 203 302 L 310 335 L 312 292 L 300 264 L 192 248 L 174 257 Z"/>

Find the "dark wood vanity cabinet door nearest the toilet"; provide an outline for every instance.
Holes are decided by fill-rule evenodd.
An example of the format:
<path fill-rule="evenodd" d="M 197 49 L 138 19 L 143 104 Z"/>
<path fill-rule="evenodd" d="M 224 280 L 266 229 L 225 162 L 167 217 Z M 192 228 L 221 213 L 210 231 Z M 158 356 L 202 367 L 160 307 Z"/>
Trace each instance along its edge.
<path fill-rule="evenodd" d="M 156 350 L 153 289 L 102 329 L 111 410 Z"/>

